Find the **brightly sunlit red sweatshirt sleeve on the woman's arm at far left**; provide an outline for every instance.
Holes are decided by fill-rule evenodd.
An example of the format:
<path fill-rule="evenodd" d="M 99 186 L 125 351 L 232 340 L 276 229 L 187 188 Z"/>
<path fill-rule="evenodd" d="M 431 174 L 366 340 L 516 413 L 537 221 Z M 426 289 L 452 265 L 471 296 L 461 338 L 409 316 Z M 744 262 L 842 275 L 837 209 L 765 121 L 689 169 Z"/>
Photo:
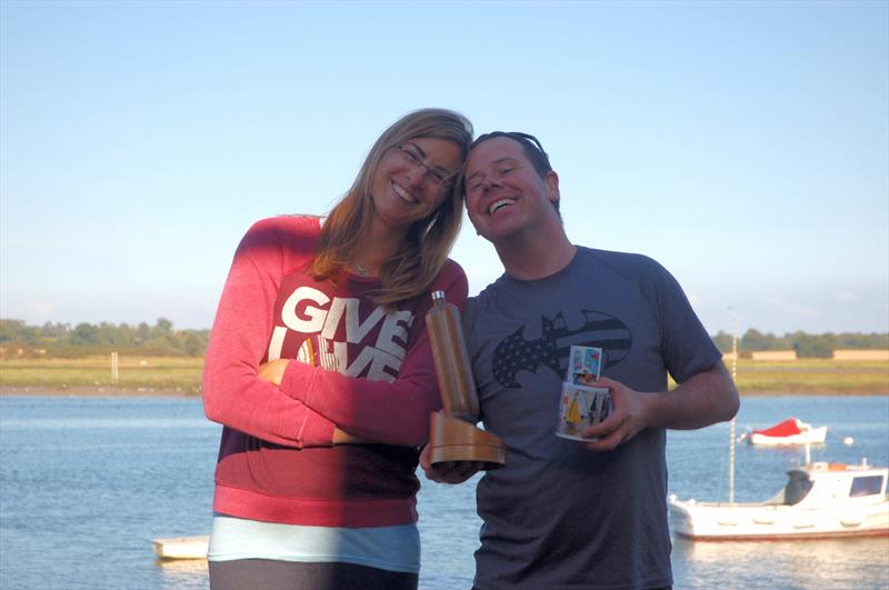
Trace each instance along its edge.
<path fill-rule="evenodd" d="M 329 446 L 333 422 L 258 373 L 284 263 L 281 223 L 280 218 L 257 222 L 234 253 L 204 356 L 204 413 L 269 442 Z"/>

